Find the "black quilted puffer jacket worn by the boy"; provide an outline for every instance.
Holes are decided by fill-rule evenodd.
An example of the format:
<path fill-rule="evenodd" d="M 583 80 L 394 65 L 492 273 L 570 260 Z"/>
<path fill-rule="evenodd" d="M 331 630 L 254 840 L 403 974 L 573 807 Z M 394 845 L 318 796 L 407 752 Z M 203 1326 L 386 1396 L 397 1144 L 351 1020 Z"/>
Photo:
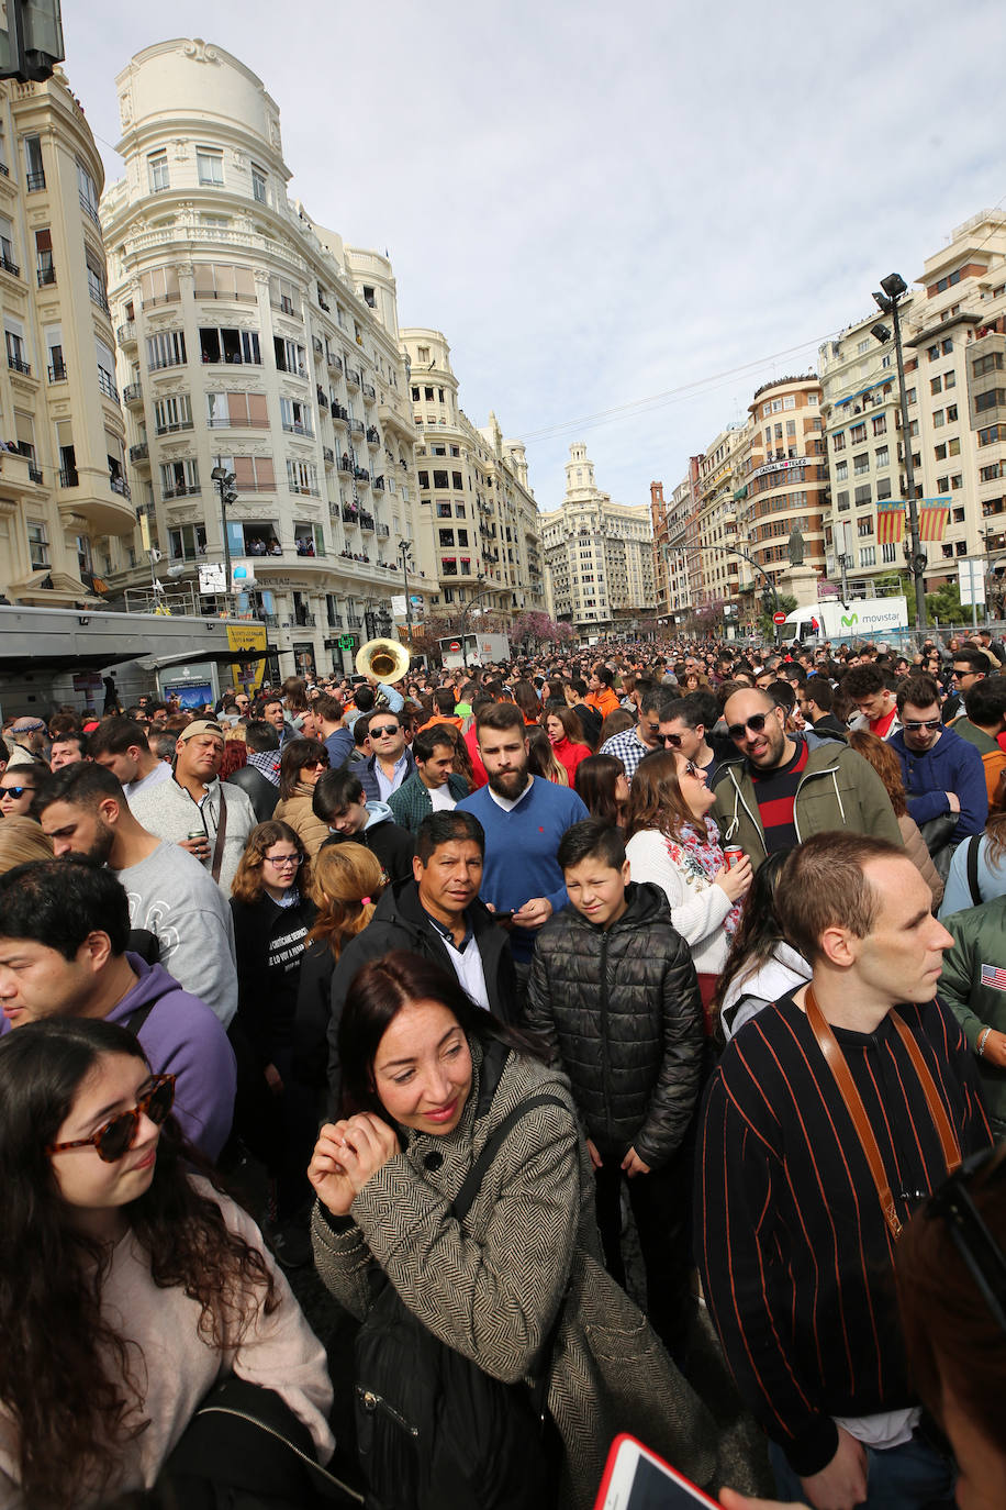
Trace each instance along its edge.
<path fill-rule="evenodd" d="M 602 1158 L 659 1169 L 698 1098 L 703 1012 L 688 944 L 652 882 L 609 929 L 564 908 L 538 933 L 525 1022 L 549 1043 Z"/>

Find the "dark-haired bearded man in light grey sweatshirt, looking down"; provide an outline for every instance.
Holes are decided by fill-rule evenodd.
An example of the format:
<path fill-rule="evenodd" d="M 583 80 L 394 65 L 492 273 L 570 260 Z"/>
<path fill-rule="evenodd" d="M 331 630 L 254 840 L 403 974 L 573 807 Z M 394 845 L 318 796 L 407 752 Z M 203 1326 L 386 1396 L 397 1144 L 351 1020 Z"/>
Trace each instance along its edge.
<path fill-rule="evenodd" d="M 47 778 L 35 811 L 57 859 L 83 855 L 115 871 L 134 933 L 154 935 L 160 963 L 226 1027 L 237 1012 L 234 924 L 199 861 L 140 827 L 118 778 L 94 761 Z"/>

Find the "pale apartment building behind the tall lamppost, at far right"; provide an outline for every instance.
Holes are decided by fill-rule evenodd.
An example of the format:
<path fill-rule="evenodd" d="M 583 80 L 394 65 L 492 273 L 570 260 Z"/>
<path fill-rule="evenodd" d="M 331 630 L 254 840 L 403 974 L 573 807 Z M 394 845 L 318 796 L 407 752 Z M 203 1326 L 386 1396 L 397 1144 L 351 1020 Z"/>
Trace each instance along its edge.
<path fill-rule="evenodd" d="M 1006 214 L 983 210 L 923 264 L 900 304 L 905 388 L 920 500 L 946 500 L 943 538 L 923 541 L 926 592 L 983 559 L 1001 610 L 1006 551 Z M 900 391 L 893 341 L 873 311 L 820 349 L 822 415 L 831 474 L 828 571 L 873 592 L 906 571 L 906 547 L 876 541 L 876 504 L 906 498 Z M 905 538 L 908 527 L 905 525 Z"/>

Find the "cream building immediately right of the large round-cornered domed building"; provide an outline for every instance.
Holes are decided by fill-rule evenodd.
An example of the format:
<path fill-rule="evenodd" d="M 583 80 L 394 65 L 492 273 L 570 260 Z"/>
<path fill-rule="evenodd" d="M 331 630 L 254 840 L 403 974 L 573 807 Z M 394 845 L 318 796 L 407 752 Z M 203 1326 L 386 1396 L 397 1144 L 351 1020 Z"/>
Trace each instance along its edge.
<path fill-rule="evenodd" d="M 538 506 L 520 441 L 496 415 L 477 429 L 459 402 L 451 347 L 440 331 L 401 332 L 409 362 L 422 530 L 433 542 L 431 618 L 474 604 L 501 624 L 544 607 Z"/>

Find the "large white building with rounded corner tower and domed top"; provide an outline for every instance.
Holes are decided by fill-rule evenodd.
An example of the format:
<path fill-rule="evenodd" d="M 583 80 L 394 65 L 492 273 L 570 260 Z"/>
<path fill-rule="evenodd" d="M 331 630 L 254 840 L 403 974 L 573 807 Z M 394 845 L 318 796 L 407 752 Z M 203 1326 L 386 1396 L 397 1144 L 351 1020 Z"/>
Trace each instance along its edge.
<path fill-rule="evenodd" d="M 101 217 L 140 530 L 112 583 L 169 577 L 207 615 L 234 592 L 273 675 L 348 666 L 403 547 L 410 592 L 434 586 L 391 264 L 288 199 L 279 109 L 223 48 L 158 42 L 116 88 Z"/>

